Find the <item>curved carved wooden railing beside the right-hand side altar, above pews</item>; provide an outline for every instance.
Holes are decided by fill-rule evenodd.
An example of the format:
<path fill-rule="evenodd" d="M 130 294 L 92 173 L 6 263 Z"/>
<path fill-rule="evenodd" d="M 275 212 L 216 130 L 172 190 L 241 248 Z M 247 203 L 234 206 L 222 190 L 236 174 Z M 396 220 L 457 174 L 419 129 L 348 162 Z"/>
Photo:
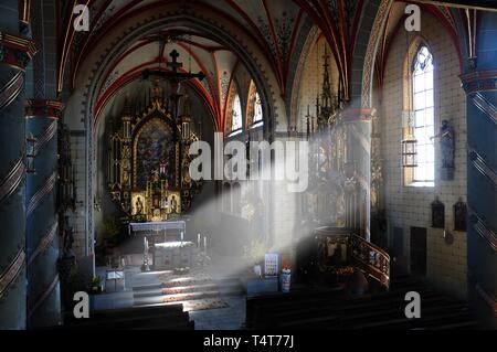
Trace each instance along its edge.
<path fill-rule="evenodd" d="M 324 262 L 329 267 L 332 267 L 334 263 L 336 266 L 350 265 L 361 269 L 384 287 L 390 286 L 390 256 L 380 247 L 353 234 L 350 230 L 339 227 L 316 228 L 315 238 L 319 252 L 318 265 Z M 332 255 L 334 260 L 326 258 L 329 256 L 326 253 L 329 246 L 340 252 Z"/>

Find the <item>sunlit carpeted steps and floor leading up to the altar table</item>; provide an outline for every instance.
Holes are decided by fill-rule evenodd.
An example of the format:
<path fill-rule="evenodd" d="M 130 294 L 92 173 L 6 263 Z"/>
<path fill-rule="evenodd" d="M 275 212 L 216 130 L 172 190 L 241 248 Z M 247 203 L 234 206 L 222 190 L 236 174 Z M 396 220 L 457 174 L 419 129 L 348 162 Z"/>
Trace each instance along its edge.
<path fill-rule="evenodd" d="M 245 295 L 237 278 L 211 267 L 193 269 L 183 276 L 170 270 L 142 273 L 141 254 L 128 255 L 126 263 L 125 290 L 94 295 L 92 310 L 182 303 L 195 322 L 195 330 L 237 330 L 243 326 Z M 103 277 L 106 270 L 106 267 L 96 268 Z"/>

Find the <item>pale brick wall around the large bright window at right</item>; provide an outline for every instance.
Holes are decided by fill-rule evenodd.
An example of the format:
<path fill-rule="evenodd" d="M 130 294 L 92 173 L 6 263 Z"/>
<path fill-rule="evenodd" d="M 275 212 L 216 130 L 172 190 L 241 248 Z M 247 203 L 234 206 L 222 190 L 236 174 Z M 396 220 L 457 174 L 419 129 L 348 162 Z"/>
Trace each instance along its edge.
<path fill-rule="evenodd" d="M 442 119 L 450 119 L 455 131 L 455 179 L 441 181 L 438 167 L 441 150 L 435 142 L 435 188 L 404 186 L 402 179 L 402 83 L 403 62 L 408 52 L 406 33 L 401 29 L 393 38 L 384 73 L 382 119 L 382 158 L 384 160 L 385 207 L 389 235 L 393 227 L 404 233 L 403 258 L 409 268 L 410 227 L 430 227 L 430 204 L 435 196 L 445 204 L 445 224 L 453 232 L 453 205 L 459 198 L 466 201 L 466 102 L 461 88 L 459 61 L 453 41 L 440 22 L 431 14 L 422 15 L 422 32 L 435 64 L 435 132 Z M 427 279 L 453 294 L 466 292 L 466 234 L 454 234 L 455 241 L 446 245 L 440 231 L 427 231 Z M 392 241 L 390 241 L 392 243 Z"/>

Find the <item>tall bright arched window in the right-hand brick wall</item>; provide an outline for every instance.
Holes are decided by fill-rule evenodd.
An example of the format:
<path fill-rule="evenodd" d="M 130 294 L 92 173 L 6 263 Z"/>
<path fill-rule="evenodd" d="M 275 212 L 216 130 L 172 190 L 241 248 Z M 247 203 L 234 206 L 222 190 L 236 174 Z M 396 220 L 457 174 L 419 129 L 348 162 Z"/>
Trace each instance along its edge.
<path fill-rule="evenodd" d="M 422 45 L 416 53 L 411 75 L 412 128 L 417 152 L 417 167 L 414 168 L 412 183 L 424 186 L 434 186 L 435 181 L 433 74 L 433 56 L 427 46 Z"/>

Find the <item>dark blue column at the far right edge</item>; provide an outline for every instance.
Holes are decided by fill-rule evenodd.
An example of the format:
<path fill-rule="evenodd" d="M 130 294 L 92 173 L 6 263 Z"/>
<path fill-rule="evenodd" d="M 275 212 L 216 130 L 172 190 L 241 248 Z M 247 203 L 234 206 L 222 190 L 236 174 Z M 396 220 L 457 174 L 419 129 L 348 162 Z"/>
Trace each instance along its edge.
<path fill-rule="evenodd" d="M 483 12 L 476 57 L 462 76 L 467 94 L 468 292 L 497 328 L 497 13 Z"/>

